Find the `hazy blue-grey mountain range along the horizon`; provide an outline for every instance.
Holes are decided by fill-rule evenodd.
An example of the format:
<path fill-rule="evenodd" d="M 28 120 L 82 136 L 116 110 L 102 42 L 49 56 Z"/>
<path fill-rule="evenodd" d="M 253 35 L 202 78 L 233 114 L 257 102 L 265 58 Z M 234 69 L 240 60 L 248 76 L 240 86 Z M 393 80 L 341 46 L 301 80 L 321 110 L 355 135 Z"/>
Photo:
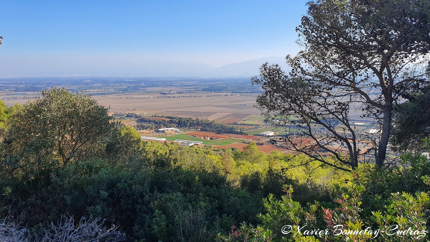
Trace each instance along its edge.
<path fill-rule="evenodd" d="M 221 67 L 202 62 L 115 58 L 16 58 L 0 66 L 3 77 L 40 76 L 141 76 L 141 77 L 252 77 L 264 62 L 286 68 L 285 58 L 272 56 Z"/>

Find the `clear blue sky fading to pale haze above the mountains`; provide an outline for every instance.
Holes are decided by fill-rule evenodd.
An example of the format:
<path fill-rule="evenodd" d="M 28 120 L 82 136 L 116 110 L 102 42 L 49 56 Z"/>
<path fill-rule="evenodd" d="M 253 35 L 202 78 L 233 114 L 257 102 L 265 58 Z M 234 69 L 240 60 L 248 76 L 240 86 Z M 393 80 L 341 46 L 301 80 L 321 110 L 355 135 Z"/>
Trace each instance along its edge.
<path fill-rule="evenodd" d="M 0 76 L 295 54 L 305 12 L 305 1 L 292 0 L 2 1 Z"/>

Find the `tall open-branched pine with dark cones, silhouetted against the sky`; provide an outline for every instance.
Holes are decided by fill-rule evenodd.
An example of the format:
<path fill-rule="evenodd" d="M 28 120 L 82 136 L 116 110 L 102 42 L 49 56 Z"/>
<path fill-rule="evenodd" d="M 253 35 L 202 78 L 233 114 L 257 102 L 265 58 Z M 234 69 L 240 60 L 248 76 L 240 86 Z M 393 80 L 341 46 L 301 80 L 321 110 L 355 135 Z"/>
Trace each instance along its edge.
<path fill-rule="evenodd" d="M 372 153 L 381 167 L 387 160 L 394 107 L 405 92 L 428 84 L 430 2 L 307 4 L 307 15 L 296 28 L 303 50 L 286 57 L 291 70 L 266 63 L 252 79 L 264 90 L 258 105 L 267 116 L 280 119 L 276 122 L 301 129 L 299 137 L 286 135 L 284 147 L 346 171 Z M 366 137 L 353 116 L 372 119 L 380 132 Z M 315 132 L 318 128 L 324 132 Z M 357 143 L 363 141 L 369 147 L 360 150 Z"/>

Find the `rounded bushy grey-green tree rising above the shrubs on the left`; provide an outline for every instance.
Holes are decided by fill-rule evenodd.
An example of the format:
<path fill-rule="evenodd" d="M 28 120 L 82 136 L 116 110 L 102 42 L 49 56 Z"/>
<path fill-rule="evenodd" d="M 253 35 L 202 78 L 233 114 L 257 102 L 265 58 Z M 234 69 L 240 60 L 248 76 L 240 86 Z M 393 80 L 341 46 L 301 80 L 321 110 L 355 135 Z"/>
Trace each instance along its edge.
<path fill-rule="evenodd" d="M 19 107 L 9 124 L 3 143 L 11 156 L 27 164 L 48 158 L 61 165 L 103 152 L 115 125 L 91 96 L 65 88 L 43 90 Z"/>

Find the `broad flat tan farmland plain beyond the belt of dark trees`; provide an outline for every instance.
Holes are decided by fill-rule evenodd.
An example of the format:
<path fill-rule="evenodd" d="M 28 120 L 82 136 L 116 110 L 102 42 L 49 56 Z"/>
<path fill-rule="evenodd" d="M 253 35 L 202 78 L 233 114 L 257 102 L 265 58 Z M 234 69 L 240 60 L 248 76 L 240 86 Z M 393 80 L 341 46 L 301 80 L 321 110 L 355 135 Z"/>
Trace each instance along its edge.
<path fill-rule="evenodd" d="M 100 83 L 103 84 L 97 82 L 98 84 L 96 83 L 97 85 L 92 87 L 87 86 L 87 84 L 93 81 L 84 81 L 85 86 L 82 86 L 83 82 L 70 85 L 67 80 L 60 78 L 58 81 L 60 81 L 58 83 L 64 82 L 64 86 L 68 86 L 70 90 L 73 90 L 72 92 L 83 91 L 85 94 L 92 94 L 92 98 L 98 101 L 98 104 L 109 107 L 109 111 L 114 113 L 146 113 L 146 116 L 180 116 L 215 120 L 215 122 L 222 122 L 228 119 L 226 123 L 234 123 L 250 115 L 259 116 L 261 113 L 261 111 L 253 107 L 256 104 L 255 98 L 258 93 L 247 93 L 244 95 L 240 93 L 202 91 L 201 80 L 186 84 L 189 86 L 183 86 L 186 82 L 175 82 L 175 80 L 161 80 L 160 82 L 158 80 L 147 80 L 151 85 L 164 85 L 163 82 L 169 85 L 172 85 L 172 83 L 179 85 L 169 87 L 146 87 L 144 86 L 145 83 L 136 85 L 133 82 L 130 84 L 121 84 L 121 82 L 111 84 L 111 79 L 100 80 Z M 49 84 L 49 81 L 37 80 L 34 82 L 43 83 L 40 89 L 49 87 L 45 86 Z M 129 85 L 135 86 L 132 89 L 134 91 L 130 91 Z M 29 100 L 34 101 L 35 97 L 40 95 L 40 92 L 14 91 L 17 89 L 27 89 L 26 86 L 22 85 L 22 82 L 15 85 L 11 84 L 9 85 L 10 91 L 9 88 L 0 91 L 0 98 L 5 101 L 7 106 L 15 103 L 24 104 Z M 177 93 L 172 95 L 160 94 L 160 92 L 166 90 L 172 90 Z"/>

